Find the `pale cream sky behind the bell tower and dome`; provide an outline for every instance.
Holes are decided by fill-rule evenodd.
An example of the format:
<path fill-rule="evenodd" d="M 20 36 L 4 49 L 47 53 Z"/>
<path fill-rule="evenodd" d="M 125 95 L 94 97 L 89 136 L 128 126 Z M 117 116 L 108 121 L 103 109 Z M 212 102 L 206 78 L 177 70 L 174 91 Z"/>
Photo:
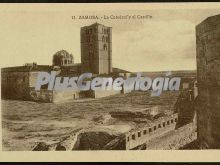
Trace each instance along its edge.
<path fill-rule="evenodd" d="M 189 7 L 189 6 L 188 6 Z M 217 8 L 150 5 L 41 4 L 0 6 L 1 67 L 51 65 L 61 49 L 80 63 L 80 27 L 98 22 L 112 27 L 113 67 L 138 71 L 196 69 L 195 26 Z M 80 15 L 151 15 L 136 20 L 73 20 Z"/>

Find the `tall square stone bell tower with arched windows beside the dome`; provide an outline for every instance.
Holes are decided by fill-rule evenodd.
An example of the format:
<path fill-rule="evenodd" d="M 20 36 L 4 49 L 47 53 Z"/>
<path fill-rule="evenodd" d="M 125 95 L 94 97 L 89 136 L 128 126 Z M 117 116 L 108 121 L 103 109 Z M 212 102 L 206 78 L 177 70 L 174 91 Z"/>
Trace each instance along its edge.
<path fill-rule="evenodd" d="M 81 28 L 82 71 L 112 72 L 112 28 L 95 23 Z"/>

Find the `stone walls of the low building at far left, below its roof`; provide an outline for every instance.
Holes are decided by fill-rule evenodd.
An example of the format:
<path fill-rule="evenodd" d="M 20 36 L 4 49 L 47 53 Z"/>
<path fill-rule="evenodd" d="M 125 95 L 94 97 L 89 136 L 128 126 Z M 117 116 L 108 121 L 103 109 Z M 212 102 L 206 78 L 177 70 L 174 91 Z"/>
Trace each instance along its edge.
<path fill-rule="evenodd" d="M 19 68 L 18 68 L 19 70 Z M 63 102 L 79 98 L 75 91 L 51 91 L 45 86 L 40 91 L 35 90 L 38 71 L 2 71 L 2 98 L 15 100 L 31 100 L 37 102 Z"/>

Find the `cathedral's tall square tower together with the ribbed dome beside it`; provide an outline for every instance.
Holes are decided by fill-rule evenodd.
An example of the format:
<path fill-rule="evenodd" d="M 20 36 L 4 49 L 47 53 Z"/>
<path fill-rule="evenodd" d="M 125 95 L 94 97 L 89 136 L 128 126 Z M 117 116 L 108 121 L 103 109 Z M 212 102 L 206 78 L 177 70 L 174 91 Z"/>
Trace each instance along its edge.
<path fill-rule="evenodd" d="M 53 66 L 60 66 L 69 73 L 112 73 L 112 28 L 98 23 L 84 26 L 80 38 L 81 64 L 74 64 L 73 55 L 60 50 L 53 55 Z"/>

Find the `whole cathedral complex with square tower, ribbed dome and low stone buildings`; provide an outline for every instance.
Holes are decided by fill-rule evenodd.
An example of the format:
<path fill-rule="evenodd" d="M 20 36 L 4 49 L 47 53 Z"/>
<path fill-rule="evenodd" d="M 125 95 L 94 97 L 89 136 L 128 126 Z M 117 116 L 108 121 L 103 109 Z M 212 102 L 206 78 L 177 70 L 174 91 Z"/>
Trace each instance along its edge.
<path fill-rule="evenodd" d="M 112 67 L 112 28 L 98 23 L 81 28 L 81 63 L 66 50 L 53 55 L 52 65 L 36 63 L 1 69 L 2 98 L 60 102 L 84 97 L 105 97 L 120 91 L 54 91 L 47 86 L 34 89 L 38 72 L 56 71 L 59 76 L 76 76 L 84 72 L 93 75 L 129 76 L 130 72 Z"/>

